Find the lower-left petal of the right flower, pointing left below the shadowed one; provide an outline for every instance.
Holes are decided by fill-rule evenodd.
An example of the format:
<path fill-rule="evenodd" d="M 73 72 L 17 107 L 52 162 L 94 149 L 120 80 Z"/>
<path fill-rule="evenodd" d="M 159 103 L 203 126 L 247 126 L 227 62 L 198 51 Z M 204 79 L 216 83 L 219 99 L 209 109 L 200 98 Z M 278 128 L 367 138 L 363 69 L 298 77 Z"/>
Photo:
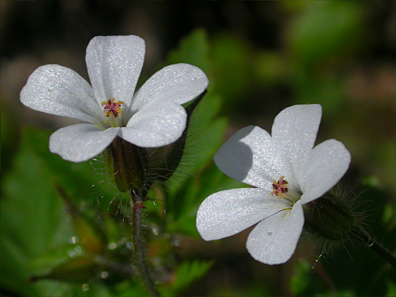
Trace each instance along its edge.
<path fill-rule="evenodd" d="M 197 229 L 204 240 L 228 237 L 288 207 L 279 197 L 256 188 L 221 191 L 203 200 Z"/>

